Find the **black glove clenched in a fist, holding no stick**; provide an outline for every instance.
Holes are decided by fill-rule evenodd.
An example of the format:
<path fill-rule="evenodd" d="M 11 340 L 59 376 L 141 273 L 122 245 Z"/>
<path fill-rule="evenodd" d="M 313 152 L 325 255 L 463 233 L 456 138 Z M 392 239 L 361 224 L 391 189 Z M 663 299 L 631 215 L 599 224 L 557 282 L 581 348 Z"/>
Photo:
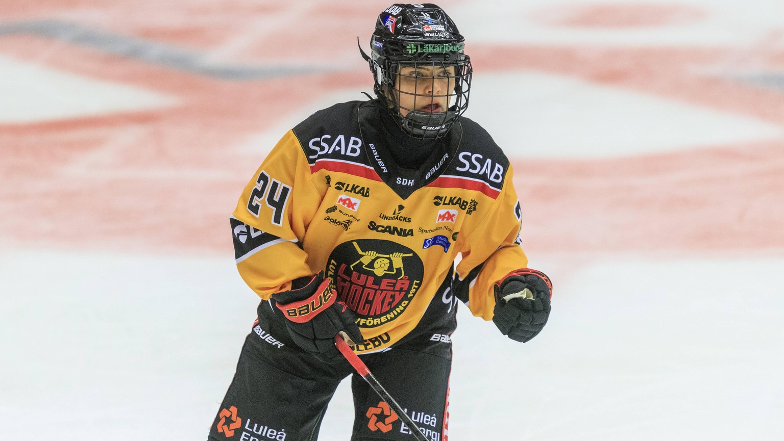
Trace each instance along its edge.
<path fill-rule="evenodd" d="M 553 284 L 535 269 L 516 269 L 495 284 L 492 321 L 501 334 L 528 342 L 547 323 Z"/>

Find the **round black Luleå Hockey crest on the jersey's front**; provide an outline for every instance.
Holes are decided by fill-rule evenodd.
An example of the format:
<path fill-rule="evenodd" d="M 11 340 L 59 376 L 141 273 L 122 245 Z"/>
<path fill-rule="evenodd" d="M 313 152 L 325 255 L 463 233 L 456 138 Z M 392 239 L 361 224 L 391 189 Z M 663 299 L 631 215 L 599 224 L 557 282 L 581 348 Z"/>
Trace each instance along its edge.
<path fill-rule="evenodd" d="M 332 251 L 327 273 L 339 297 L 357 314 L 357 324 L 377 327 L 405 311 L 422 286 L 424 265 L 404 245 L 358 239 Z"/>

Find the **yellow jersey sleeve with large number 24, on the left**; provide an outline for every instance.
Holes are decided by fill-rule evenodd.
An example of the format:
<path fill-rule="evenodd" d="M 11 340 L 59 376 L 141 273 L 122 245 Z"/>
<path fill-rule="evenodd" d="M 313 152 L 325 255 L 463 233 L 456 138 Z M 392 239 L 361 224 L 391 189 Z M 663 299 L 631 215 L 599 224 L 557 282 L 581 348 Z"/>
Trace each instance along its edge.
<path fill-rule="evenodd" d="M 321 204 L 310 166 L 289 130 L 245 186 L 230 219 L 240 276 L 267 300 L 315 273 L 300 244 Z"/>

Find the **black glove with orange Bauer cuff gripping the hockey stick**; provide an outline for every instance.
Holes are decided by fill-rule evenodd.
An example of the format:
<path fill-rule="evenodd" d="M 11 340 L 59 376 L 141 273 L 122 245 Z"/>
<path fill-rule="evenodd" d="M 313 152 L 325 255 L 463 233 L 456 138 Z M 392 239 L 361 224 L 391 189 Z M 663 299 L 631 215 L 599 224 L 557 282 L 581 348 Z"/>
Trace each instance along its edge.
<path fill-rule="evenodd" d="M 288 319 L 292 340 L 319 360 L 333 362 L 343 358 L 335 346 L 339 331 L 345 331 L 354 342 L 364 340 L 355 323 L 357 316 L 338 298 L 332 280 L 325 279 L 323 271 L 310 279 L 294 280 L 291 291 L 275 293 L 272 298 Z"/>

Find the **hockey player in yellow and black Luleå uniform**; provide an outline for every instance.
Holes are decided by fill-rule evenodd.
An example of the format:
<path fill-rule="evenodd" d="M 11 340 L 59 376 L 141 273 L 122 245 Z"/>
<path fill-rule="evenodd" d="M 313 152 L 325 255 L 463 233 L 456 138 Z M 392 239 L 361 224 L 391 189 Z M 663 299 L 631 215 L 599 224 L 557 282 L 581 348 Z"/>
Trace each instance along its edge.
<path fill-rule="evenodd" d="M 519 342 L 542 330 L 550 280 L 527 268 L 509 160 L 462 116 L 463 45 L 437 5 L 391 5 L 362 52 L 376 98 L 317 111 L 252 176 L 230 221 L 262 302 L 209 439 L 317 439 L 353 372 L 339 331 L 426 436 L 446 439 L 457 301 Z M 358 375 L 351 386 L 352 440 L 412 439 Z"/>

